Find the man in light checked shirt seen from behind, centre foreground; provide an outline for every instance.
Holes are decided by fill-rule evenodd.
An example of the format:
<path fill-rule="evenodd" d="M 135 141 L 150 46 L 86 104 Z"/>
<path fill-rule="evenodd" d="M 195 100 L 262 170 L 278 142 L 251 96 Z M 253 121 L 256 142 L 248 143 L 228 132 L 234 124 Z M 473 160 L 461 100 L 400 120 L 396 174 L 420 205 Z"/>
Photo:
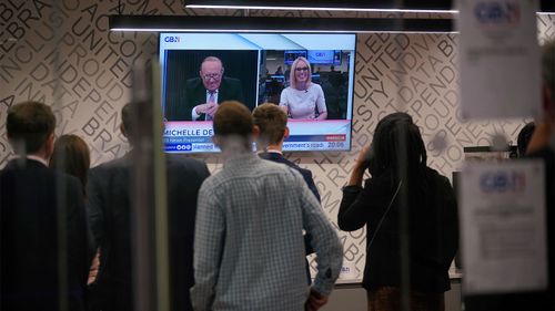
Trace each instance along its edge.
<path fill-rule="evenodd" d="M 315 196 L 297 170 L 252 153 L 258 128 L 243 104 L 222 103 L 213 128 L 225 162 L 199 193 L 194 310 L 317 310 L 339 277 L 343 250 Z M 317 262 L 310 290 L 303 229 Z"/>

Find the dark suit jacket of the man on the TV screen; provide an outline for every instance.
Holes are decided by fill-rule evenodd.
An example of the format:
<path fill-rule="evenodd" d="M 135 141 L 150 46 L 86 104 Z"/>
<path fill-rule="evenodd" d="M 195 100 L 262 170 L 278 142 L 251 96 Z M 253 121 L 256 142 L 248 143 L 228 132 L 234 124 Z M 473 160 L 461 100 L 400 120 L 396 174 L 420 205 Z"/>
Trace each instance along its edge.
<path fill-rule="evenodd" d="M 176 95 L 168 102 L 165 107 L 165 118 L 168 121 L 191 121 L 191 111 L 194 106 L 206 102 L 206 89 L 200 77 L 190 79 L 185 86 L 176 90 Z M 222 77 L 218 89 L 218 103 L 225 101 L 238 101 L 244 104 L 243 87 L 241 81 L 233 77 Z M 204 121 L 201 114 L 198 121 Z"/>

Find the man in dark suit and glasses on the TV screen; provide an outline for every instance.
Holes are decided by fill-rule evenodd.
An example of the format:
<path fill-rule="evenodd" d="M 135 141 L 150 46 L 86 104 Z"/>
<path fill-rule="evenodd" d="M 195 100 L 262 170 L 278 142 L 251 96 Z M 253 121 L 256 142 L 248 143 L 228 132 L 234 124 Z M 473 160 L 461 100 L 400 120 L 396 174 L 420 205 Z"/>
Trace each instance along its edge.
<path fill-rule="evenodd" d="M 244 103 L 241 81 L 223 75 L 222 61 L 215 56 L 205 58 L 199 71 L 200 77 L 185 82 L 184 99 L 171 102 L 167 107 L 168 121 L 211 121 L 218 105 L 224 101 Z"/>

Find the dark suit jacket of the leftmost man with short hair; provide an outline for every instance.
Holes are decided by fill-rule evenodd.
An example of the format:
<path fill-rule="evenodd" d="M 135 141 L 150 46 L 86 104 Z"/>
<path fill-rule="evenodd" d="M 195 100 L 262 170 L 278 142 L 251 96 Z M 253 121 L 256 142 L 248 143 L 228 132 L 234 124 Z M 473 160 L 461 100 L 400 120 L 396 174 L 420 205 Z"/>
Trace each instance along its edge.
<path fill-rule="evenodd" d="M 0 310 L 60 310 L 60 293 L 68 310 L 85 310 L 90 245 L 83 199 L 77 178 L 38 160 L 14 159 L 0 172 Z M 67 289 L 60 288 L 60 228 L 67 230 Z"/>

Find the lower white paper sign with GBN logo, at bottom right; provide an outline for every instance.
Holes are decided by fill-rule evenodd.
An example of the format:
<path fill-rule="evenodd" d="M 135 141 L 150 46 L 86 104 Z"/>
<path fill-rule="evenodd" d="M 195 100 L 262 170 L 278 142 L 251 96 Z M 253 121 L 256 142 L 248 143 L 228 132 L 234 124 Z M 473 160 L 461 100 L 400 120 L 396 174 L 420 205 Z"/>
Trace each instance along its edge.
<path fill-rule="evenodd" d="M 544 164 L 466 164 L 461 183 L 465 293 L 547 287 Z"/>

